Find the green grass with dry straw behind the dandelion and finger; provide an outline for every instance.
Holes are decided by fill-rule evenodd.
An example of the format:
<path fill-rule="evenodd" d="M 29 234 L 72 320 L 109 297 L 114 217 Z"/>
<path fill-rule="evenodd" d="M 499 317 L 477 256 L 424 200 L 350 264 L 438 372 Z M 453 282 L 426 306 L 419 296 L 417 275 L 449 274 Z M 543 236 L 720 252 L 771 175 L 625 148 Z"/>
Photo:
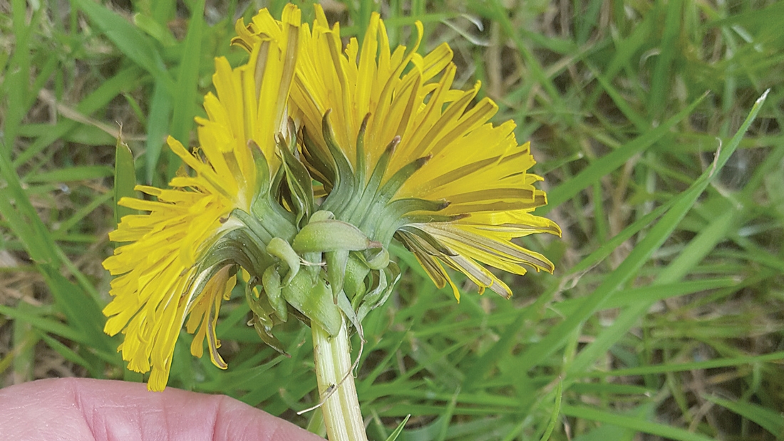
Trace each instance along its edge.
<path fill-rule="evenodd" d="M 263 6 L 0 2 L 0 385 L 143 380 L 100 331 L 115 138 L 122 127 L 138 182 L 164 185 L 180 165 L 164 136 L 193 141 L 212 59 L 242 62 L 234 21 Z M 525 241 L 557 270 L 507 277 L 511 301 L 461 279 L 457 304 L 394 250 L 406 275 L 365 320 L 357 379 L 372 439 L 408 414 L 400 439 L 784 437 L 784 3 L 325 9 L 346 37 L 380 10 L 394 43 L 414 20 L 426 49 L 449 42 L 459 84 L 481 80 L 496 121 L 532 140 L 539 214 L 564 230 Z M 229 370 L 193 359 L 183 333 L 169 384 L 318 432 L 318 412 L 295 413 L 316 400 L 309 330 L 284 327 L 292 357 L 277 356 L 244 303 L 221 309 Z"/>

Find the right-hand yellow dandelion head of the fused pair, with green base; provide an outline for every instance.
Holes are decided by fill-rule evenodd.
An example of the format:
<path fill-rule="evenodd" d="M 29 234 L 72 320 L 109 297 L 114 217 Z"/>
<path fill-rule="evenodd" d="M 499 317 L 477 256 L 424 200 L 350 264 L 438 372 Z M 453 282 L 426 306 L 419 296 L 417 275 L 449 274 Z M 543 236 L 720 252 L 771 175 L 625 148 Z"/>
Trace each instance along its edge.
<path fill-rule="evenodd" d="M 452 50 L 442 44 L 420 56 L 421 23 L 416 29 L 414 47 L 391 51 L 374 13 L 363 44 L 352 38 L 341 50 L 339 25 L 330 27 L 316 5 L 312 31 L 307 24 L 301 29 L 291 92 L 292 114 L 307 131 L 303 157 L 332 191 L 324 209 L 337 219 L 382 244 L 394 234 L 434 283 L 451 284 L 458 299 L 442 263 L 465 273 L 481 291 L 489 287 L 508 298 L 510 288 L 480 262 L 510 273 L 552 273 L 547 258 L 512 239 L 560 236 L 561 230 L 530 214 L 546 204 L 546 195 L 534 186 L 541 178 L 527 172 L 535 161 L 528 143 L 517 144 L 514 122 L 489 123 L 498 109 L 491 99 L 471 106 L 479 83 L 452 89 Z M 254 21 L 240 38 L 252 42 L 260 34 Z M 322 132 L 326 119 L 331 124 Z M 341 161 L 348 162 L 343 168 L 350 168 L 350 179 L 334 171 Z M 338 189 L 346 186 L 352 201 Z M 338 192 L 342 200 L 336 201 Z M 383 201 L 367 202 L 368 194 Z"/>

